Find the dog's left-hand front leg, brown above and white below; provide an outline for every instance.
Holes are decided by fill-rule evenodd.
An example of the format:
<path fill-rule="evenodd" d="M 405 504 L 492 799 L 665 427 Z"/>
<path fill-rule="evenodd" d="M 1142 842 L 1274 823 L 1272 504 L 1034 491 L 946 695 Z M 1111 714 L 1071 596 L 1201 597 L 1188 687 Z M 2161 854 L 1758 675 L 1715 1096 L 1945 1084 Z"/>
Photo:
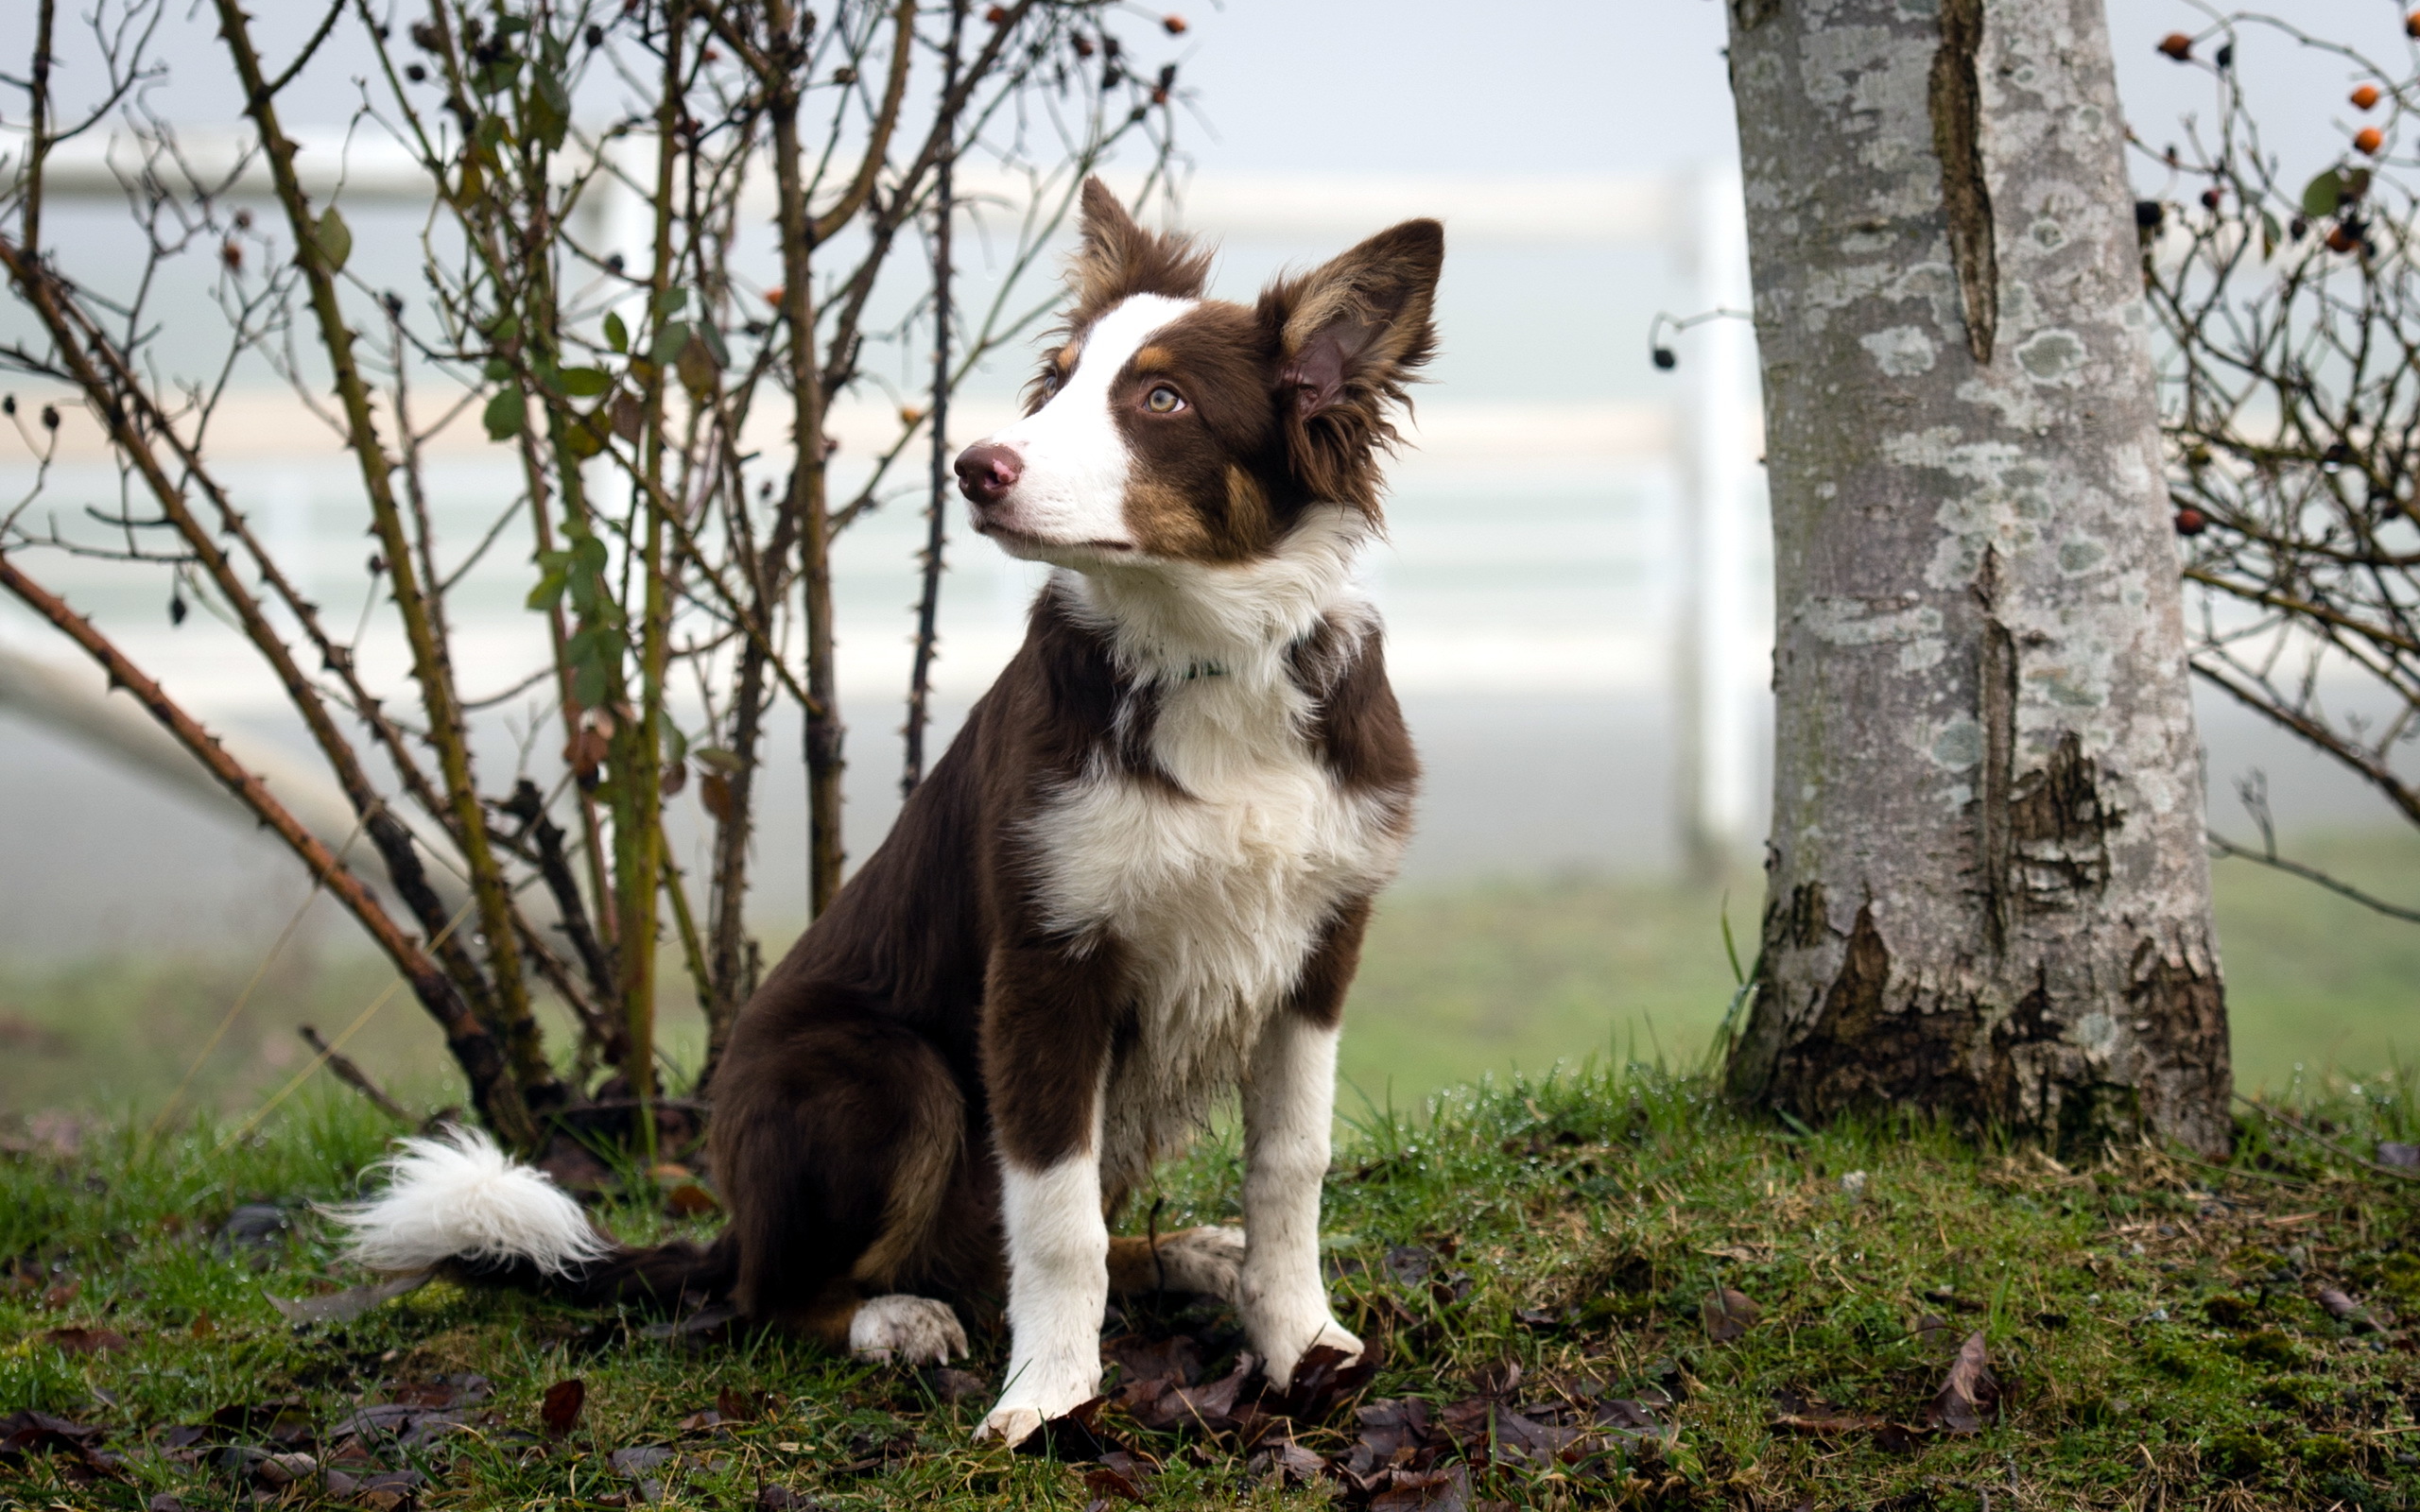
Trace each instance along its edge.
<path fill-rule="evenodd" d="M 1101 1389 L 1108 1222 L 1101 1074 L 1111 980 L 1096 960 L 999 951 L 987 977 L 985 1081 L 1009 1258 L 1009 1377 L 978 1439 L 1019 1442 Z"/>

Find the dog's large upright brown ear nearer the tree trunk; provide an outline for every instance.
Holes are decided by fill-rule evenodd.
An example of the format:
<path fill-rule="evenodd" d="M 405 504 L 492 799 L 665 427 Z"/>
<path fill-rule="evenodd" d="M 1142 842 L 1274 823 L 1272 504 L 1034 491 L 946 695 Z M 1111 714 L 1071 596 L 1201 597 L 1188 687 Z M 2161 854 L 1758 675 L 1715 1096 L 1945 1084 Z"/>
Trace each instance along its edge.
<path fill-rule="evenodd" d="M 1396 438 L 1387 406 L 1408 404 L 1404 385 L 1437 348 L 1442 266 L 1445 227 L 1406 220 L 1261 295 L 1295 469 L 1321 498 L 1377 513 L 1375 452 Z"/>

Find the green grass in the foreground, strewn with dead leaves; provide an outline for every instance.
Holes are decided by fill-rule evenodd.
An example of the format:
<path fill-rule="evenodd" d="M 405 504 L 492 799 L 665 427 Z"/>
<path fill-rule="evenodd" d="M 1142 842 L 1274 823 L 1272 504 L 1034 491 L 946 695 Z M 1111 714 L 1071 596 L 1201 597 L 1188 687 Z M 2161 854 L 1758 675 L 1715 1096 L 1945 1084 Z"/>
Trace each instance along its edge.
<path fill-rule="evenodd" d="M 2304 1115 L 2347 1149 L 2420 1127 L 2420 1101 L 2393 1079 L 2306 1093 Z M 1091 1502 L 1084 1466 L 970 1447 L 980 1396 L 941 1401 L 924 1377 L 784 1338 L 682 1343 L 636 1316 L 448 1285 L 353 1323 L 286 1326 L 269 1292 L 356 1280 L 310 1202 L 348 1195 L 387 1132 L 356 1103 L 298 1098 L 225 1152 L 220 1125 L 201 1120 L 162 1142 L 111 1127 L 75 1156 L 0 1159 L 0 1410 L 104 1427 L 126 1456 L 123 1481 L 90 1483 L 68 1456 L 0 1459 L 0 1505 L 235 1505 L 249 1490 L 215 1456 L 165 1449 L 172 1425 L 283 1403 L 307 1435 L 457 1372 L 494 1381 L 494 1420 L 402 1454 L 428 1473 L 424 1507 L 617 1505 L 632 1485 L 605 1456 L 636 1444 L 673 1452 L 651 1476 L 678 1507 L 755 1505 L 760 1483 L 832 1510 Z M 1232 1219 L 1237 1181 L 1232 1144 L 1198 1149 L 1166 1168 L 1159 1224 Z M 1503 1381 L 1510 1362 L 1525 1369 L 1522 1403 L 1677 1398 L 1655 1408 L 1670 1437 L 1575 1466 L 1483 1466 L 1483 1500 L 2379 1512 L 2420 1505 L 2420 1335 L 2357 1333 L 2318 1297 L 2340 1287 L 2420 1318 L 2415 1198 L 2420 1183 L 2258 1118 L 2226 1168 L 2151 1149 L 2067 1168 L 1912 1120 L 1750 1123 L 1684 1077 L 1592 1067 L 1488 1079 L 1423 1118 L 1358 1120 L 1326 1227 L 1338 1311 L 1387 1350 L 1365 1401 L 1450 1403 Z M 266 1248 L 213 1239 L 244 1202 L 281 1205 L 293 1231 Z M 605 1217 L 634 1239 L 678 1227 L 644 1205 Z M 1396 1280 L 1404 1256 L 1440 1275 Z M 1709 1335 L 1704 1297 L 1718 1287 L 1759 1309 L 1733 1343 Z M 68 1326 L 128 1343 L 65 1352 L 53 1331 Z M 1234 1345 L 1220 1311 L 1137 1311 L 1128 1326 L 1183 1326 L 1212 1364 Z M 1924 1432 L 1951 1355 L 1977 1331 L 2004 1413 L 1975 1435 Z M 997 1384 L 997 1331 L 978 1328 L 968 1369 Z M 549 1442 L 535 1432 L 540 1393 L 569 1377 L 586 1381 L 588 1410 Z M 726 1389 L 767 1393 L 770 1410 L 680 1427 Z M 1776 1403 L 1917 1432 L 1788 1432 Z M 218 1437 L 259 1435 L 264 1420 Z M 1154 1507 L 1336 1505 L 1324 1483 L 1254 1481 L 1232 1442 L 1142 1432 L 1116 1408 L 1104 1422 L 1159 1461 Z M 1319 1454 L 1353 1432 L 1350 1413 L 1297 1427 Z"/>

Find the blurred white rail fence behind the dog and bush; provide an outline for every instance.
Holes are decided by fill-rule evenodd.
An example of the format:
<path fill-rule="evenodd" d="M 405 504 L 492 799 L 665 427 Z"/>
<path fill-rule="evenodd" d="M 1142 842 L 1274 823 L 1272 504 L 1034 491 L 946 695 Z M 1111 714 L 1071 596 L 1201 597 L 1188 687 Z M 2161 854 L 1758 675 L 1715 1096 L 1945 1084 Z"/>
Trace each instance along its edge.
<path fill-rule="evenodd" d="M 196 138 L 186 160 L 196 177 L 218 177 L 237 148 Z M 390 157 L 358 143 L 315 143 L 302 165 L 317 191 L 336 191 L 341 179 L 348 206 L 421 203 L 416 167 Z M 53 157 L 51 194 L 70 206 L 116 201 L 123 169 L 123 143 L 77 143 Z M 1658 375 L 1646 317 L 1653 307 L 1747 307 L 1738 194 L 1725 172 L 1679 181 L 1200 174 L 1181 201 L 1183 223 L 1222 240 L 1232 264 L 1331 252 L 1406 215 L 1447 223 L 1447 360 L 1442 382 L 1421 394 L 1416 450 L 1394 472 L 1389 542 L 1372 561 L 1396 682 L 1411 697 L 1648 694 L 1670 711 L 1677 791 L 1646 801 L 1675 815 L 1682 852 L 1709 866 L 1750 852 L 1762 813 L 1771 612 L 1754 348 L 1745 322 L 1706 322 L 1675 344 L 1677 373 Z M 593 213 L 598 235 L 612 240 L 612 203 Z M 1556 249 L 1561 276 L 1520 288 L 1522 259 L 1537 249 Z M 1462 266 L 1479 273 L 1457 283 Z M 1595 283 L 1590 269 L 1604 269 Z M 1609 341 L 1600 334 L 1578 351 L 1575 322 L 1607 302 L 1631 329 L 1614 327 Z M 1454 368 L 1467 346 L 1500 353 L 1496 368 L 1467 380 L 1469 365 Z M 1503 353 L 1566 377 L 1522 392 L 1542 385 Z M 961 404 L 956 440 L 980 435 L 995 411 L 1004 414 L 1004 402 Z M 842 406 L 840 462 L 869 455 L 888 426 L 886 404 Z M 97 428 L 70 411 L 60 440 L 48 498 L 60 510 L 111 506 L 119 481 Z M 213 455 L 332 617 L 358 612 L 368 544 L 334 435 L 283 392 L 240 392 L 215 426 Z M 511 498 L 515 467 L 469 421 L 431 457 L 448 515 L 440 535 L 474 539 Z M 27 452 L 0 431 L 0 498 L 15 501 L 29 481 Z M 915 501 L 876 510 L 837 552 L 845 697 L 859 704 L 888 699 L 908 680 L 912 515 Z M 953 537 L 937 692 L 966 702 L 1014 648 L 1033 578 L 963 530 Z M 520 610 L 520 552 L 496 556 L 465 578 L 455 624 L 467 636 L 457 663 L 499 668 L 503 687 L 528 663 L 537 627 Z M 46 559 L 41 571 L 203 714 L 273 723 L 266 675 L 218 627 L 169 627 L 155 571 L 65 559 Z M 7 605 L 0 653 L 70 660 Z M 382 670 L 399 680 L 399 663 Z M 467 680 L 474 697 L 494 692 L 477 670 Z M 0 680 L 0 704 L 7 689 Z M 36 714 L 22 699 L 15 706 Z"/>

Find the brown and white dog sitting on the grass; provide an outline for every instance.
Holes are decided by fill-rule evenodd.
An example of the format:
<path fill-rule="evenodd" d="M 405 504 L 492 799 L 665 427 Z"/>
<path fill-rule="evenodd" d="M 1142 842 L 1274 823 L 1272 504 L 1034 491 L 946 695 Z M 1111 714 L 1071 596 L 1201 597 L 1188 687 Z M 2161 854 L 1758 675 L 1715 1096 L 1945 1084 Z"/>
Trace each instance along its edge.
<path fill-rule="evenodd" d="M 1203 295 L 1208 254 L 1084 186 L 1074 307 L 1024 419 L 958 457 L 975 530 L 1060 571 L 891 837 L 741 1014 L 714 1081 L 728 1229 L 615 1248 L 474 1135 L 348 1214 L 380 1268 L 728 1297 L 871 1357 L 966 1350 L 983 1437 L 1094 1396 L 1116 1289 L 1215 1292 L 1285 1384 L 1360 1352 L 1319 1277 L 1336 1031 L 1418 764 L 1353 583 L 1389 414 L 1433 348 L 1433 220 Z M 1229 1091 L 1244 1229 L 1108 1217 Z"/>

